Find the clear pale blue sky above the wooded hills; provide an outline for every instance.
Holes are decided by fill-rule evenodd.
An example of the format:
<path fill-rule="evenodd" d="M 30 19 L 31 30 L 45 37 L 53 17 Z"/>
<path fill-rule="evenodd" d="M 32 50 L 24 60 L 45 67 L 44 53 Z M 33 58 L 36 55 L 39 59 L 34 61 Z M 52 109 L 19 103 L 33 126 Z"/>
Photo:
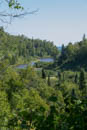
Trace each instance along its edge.
<path fill-rule="evenodd" d="M 87 35 L 87 0 L 20 0 L 33 15 L 15 19 L 6 31 L 29 38 L 53 41 L 55 45 L 77 42 Z"/>

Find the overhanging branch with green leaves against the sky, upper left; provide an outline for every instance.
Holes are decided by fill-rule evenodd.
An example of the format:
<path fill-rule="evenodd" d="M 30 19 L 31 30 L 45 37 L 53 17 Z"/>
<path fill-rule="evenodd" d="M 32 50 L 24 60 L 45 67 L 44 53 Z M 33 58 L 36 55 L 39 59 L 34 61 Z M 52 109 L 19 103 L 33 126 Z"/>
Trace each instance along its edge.
<path fill-rule="evenodd" d="M 4 11 L 5 10 L 7 11 Z M 0 21 L 10 24 L 13 18 L 23 17 L 28 14 L 34 14 L 37 10 L 25 11 L 19 0 L 0 0 Z"/>

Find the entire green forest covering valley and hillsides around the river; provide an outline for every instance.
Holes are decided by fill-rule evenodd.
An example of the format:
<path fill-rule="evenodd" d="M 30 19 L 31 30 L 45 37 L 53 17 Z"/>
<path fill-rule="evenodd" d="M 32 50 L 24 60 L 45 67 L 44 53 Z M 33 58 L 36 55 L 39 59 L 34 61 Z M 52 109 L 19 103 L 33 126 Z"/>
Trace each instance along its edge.
<path fill-rule="evenodd" d="M 40 62 L 51 57 L 54 62 Z M 86 130 L 87 39 L 62 45 L 0 28 L 1 130 Z M 20 64 L 34 66 L 18 69 Z"/>

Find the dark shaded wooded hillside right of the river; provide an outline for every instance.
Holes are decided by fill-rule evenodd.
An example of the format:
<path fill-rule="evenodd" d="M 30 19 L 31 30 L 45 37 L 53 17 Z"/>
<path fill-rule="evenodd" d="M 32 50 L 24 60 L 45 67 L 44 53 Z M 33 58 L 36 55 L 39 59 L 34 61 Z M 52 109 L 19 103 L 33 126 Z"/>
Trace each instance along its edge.
<path fill-rule="evenodd" d="M 87 70 L 87 39 L 85 36 L 80 42 L 69 43 L 66 47 L 62 46 L 58 66 L 62 69 L 85 68 Z"/>

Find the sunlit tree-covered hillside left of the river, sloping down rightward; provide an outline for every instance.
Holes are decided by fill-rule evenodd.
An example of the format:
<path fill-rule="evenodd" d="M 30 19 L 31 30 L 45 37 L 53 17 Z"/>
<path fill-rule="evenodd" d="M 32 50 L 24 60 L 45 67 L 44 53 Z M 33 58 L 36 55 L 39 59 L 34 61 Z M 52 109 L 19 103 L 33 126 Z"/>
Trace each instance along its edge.
<path fill-rule="evenodd" d="M 56 57 L 58 49 L 53 42 L 29 39 L 24 35 L 13 36 L 0 28 L 0 59 L 8 59 L 15 64 L 19 59 L 29 60 L 32 57 Z"/>

